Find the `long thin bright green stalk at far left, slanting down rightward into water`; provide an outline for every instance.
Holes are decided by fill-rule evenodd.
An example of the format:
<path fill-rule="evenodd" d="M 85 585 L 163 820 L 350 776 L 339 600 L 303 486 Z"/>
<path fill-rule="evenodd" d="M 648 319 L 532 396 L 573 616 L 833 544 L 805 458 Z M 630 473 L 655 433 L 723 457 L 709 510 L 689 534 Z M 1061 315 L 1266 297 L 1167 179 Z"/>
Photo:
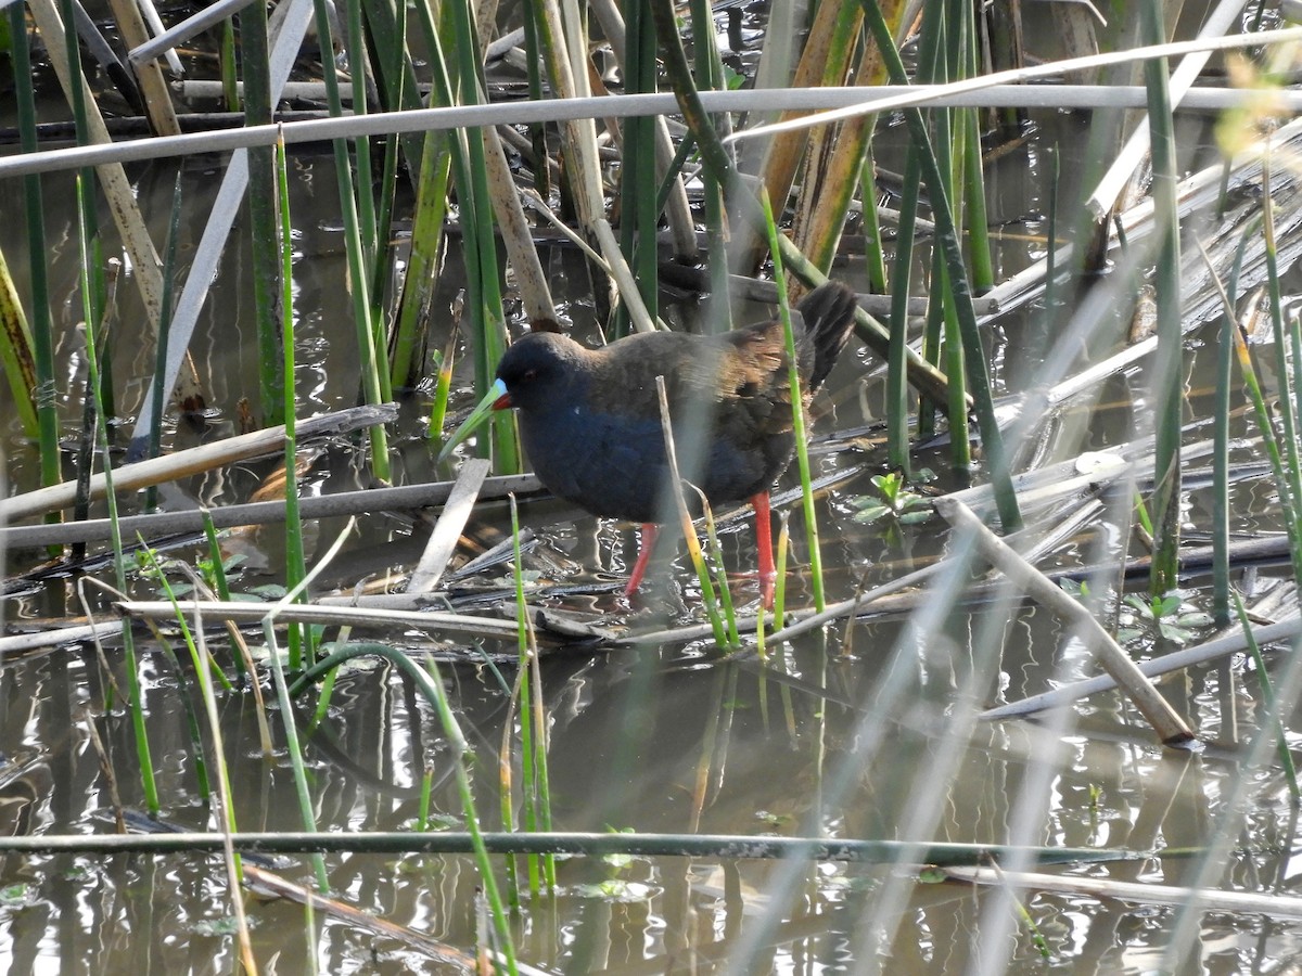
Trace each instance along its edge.
<path fill-rule="evenodd" d="M 77 174 L 77 203 L 78 213 L 85 212 L 85 185 L 81 173 Z M 82 314 L 90 315 L 90 275 L 89 262 L 91 260 L 91 245 L 89 229 L 78 220 L 77 245 L 82 260 Z M 99 423 L 95 424 L 96 439 L 100 454 L 104 458 L 104 492 L 108 504 L 108 527 L 113 545 L 113 578 L 118 591 L 126 592 L 126 557 L 122 554 L 122 530 L 117 521 L 117 495 L 113 492 L 113 466 L 108 453 L 108 429 L 104 418 L 103 402 L 100 400 L 99 383 L 99 355 L 95 349 L 95 331 L 90 320 L 86 321 L 86 383 L 90 388 L 90 398 L 95 401 L 95 410 Z M 139 661 L 135 657 L 135 640 L 130 627 L 122 627 L 122 647 L 126 651 L 126 687 L 128 700 L 132 712 L 132 729 L 135 735 L 135 757 L 141 765 L 141 787 L 145 793 L 145 807 L 150 816 L 158 816 L 160 809 L 158 785 L 154 781 L 154 760 L 150 755 L 148 731 L 145 725 L 145 699 L 141 690 Z"/>

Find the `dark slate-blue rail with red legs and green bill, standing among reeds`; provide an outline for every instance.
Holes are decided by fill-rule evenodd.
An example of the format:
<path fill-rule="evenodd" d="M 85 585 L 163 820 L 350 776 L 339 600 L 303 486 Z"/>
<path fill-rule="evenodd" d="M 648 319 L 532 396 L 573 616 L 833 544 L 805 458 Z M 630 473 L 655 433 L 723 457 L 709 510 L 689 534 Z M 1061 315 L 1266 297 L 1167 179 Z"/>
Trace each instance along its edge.
<path fill-rule="evenodd" d="M 854 293 L 827 282 L 792 315 L 797 372 L 806 401 L 854 324 Z M 794 452 L 792 390 L 781 321 L 721 336 L 651 332 L 587 349 L 549 332 L 516 342 L 497 381 L 444 446 L 440 459 L 492 410 L 518 410 L 525 452 L 556 496 L 608 518 L 643 523 L 631 595 L 646 571 L 668 484 L 656 377 L 664 376 L 680 474 L 712 506 L 749 498 L 766 605 L 773 548 L 768 489 Z M 693 493 L 689 492 L 689 501 Z"/>

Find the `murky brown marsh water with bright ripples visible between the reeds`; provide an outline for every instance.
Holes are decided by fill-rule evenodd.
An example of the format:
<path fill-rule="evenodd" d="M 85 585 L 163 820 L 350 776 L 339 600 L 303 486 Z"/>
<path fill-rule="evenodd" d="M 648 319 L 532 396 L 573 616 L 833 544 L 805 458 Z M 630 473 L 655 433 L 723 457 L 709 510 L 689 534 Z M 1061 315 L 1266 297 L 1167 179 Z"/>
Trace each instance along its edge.
<path fill-rule="evenodd" d="M 992 223 L 1003 229 L 1001 278 L 1043 250 L 1036 236 L 1043 229 L 1044 173 L 1038 164 L 1048 144 L 1070 144 L 1082 118 L 1064 113 L 1038 122 L 1026 148 L 991 170 L 992 199 L 1000 202 Z M 889 167 L 888 156 L 880 161 Z M 1066 154 L 1064 161 L 1069 161 Z M 145 212 L 159 228 L 167 220 L 176 165 L 184 170 L 184 225 L 198 228 L 223 160 L 160 161 L 133 172 Z M 327 152 L 302 150 L 293 156 L 296 383 L 303 416 L 352 406 L 358 385 L 355 359 L 337 351 L 350 349 L 345 337 L 353 325 L 340 289 L 345 258 L 332 167 Z M 60 174 L 44 182 L 53 280 L 64 289 L 60 294 L 69 297 L 56 312 L 66 381 L 61 406 L 73 431 L 81 415 L 85 362 L 73 329 L 78 259 L 72 212 L 62 210 L 70 204 L 72 183 Z M 17 190 L 17 181 L 0 182 L 0 212 L 18 212 Z M 172 446 L 230 433 L 238 398 L 255 392 L 247 234 L 241 237 L 241 243 L 228 251 L 214 282 L 194 347 L 210 394 L 206 429 L 172 429 Z M 18 272 L 21 264 L 13 260 L 21 247 L 17 221 L 0 225 L 0 246 Z M 556 247 L 546 260 L 566 324 L 590 336 L 592 297 L 578 258 Z M 449 262 L 456 262 L 456 247 Z M 862 269 L 853 260 L 835 275 L 865 290 Z M 444 288 L 435 307 L 449 308 L 452 291 Z M 135 332 L 142 316 L 132 289 L 120 288 L 118 295 L 115 357 L 118 375 L 137 377 L 120 390 L 132 413 L 152 370 L 152 353 Z M 671 315 L 690 321 L 694 311 L 684 306 L 671 308 Z M 1215 342 L 1213 327 L 1189 338 L 1195 397 L 1210 385 L 1210 366 L 1199 351 Z M 523 323 L 513 324 L 517 333 L 522 328 Z M 987 336 L 1003 394 L 1026 389 L 1038 366 L 1026 350 L 1039 347 L 1048 328 L 1042 310 L 1031 308 L 1019 321 L 1003 320 Z M 431 347 L 441 347 L 444 337 L 436 324 Z M 816 433 L 871 424 L 881 397 L 875 366 L 858 346 L 845 357 L 827 384 Z M 457 402 L 467 406 L 469 379 L 464 376 L 458 373 Z M 1046 428 L 1040 459 L 1121 448 L 1147 433 L 1137 427 L 1143 414 L 1133 409 L 1147 397 L 1146 380 L 1141 363 L 1068 403 Z M 404 398 L 395 437 L 398 481 L 449 474 L 434 470 L 422 426 L 427 394 L 415 390 Z M 13 493 L 35 487 L 36 463 L 5 397 L 8 392 L 0 393 L 3 450 Z M 1243 422 L 1236 423 L 1237 432 L 1246 433 Z M 1191 441 L 1206 436 L 1197 428 L 1189 432 Z M 881 454 L 868 441 L 832 441 L 818 454 L 823 472 L 861 468 L 819 500 L 833 599 L 853 593 L 861 576 L 893 578 L 924 563 L 944 543 L 935 522 L 888 532 L 853 519 L 853 500 L 868 492 L 868 476 L 883 470 Z M 327 445 L 306 480 L 307 491 L 366 487 L 368 472 L 358 457 L 352 441 Z M 1240 457 L 1254 459 L 1249 449 Z M 924 449 L 921 459 L 937 472 L 940 485 L 954 484 L 940 449 Z M 243 501 L 275 463 L 268 459 L 191 479 L 167 493 L 164 506 Z M 1198 522 L 1199 504 L 1194 489 L 1191 522 Z M 1241 483 L 1232 504 L 1233 530 L 1277 531 L 1271 522 L 1269 485 Z M 642 630 L 693 618 L 699 599 L 681 560 L 658 570 L 654 586 L 631 608 L 617 596 L 618 574 L 631 558 L 629 527 L 598 523 L 547 500 L 523 500 L 521 518 L 540 537 L 525 561 L 531 601 L 594 619 L 626 619 Z M 793 523 L 798 521 L 793 515 Z M 319 523 L 318 548 L 342 527 L 342 521 Z M 487 544 L 508 527 L 504 505 L 484 505 L 469 534 Z M 327 579 L 346 591 L 372 574 L 410 570 L 422 539 L 410 519 L 375 514 L 363 521 Z M 242 534 L 238 544 L 251 558 L 237 588 L 280 580 L 279 530 Z M 1104 523 L 1062 545 L 1056 560 L 1094 562 L 1115 554 L 1117 544 Z M 190 561 L 203 556 L 190 543 L 168 554 Z M 7 575 L 10 580 L 30 575 L 40 558 L 40 553 L 9 552 Z M 749 526 L 729 524 L 725 561 L 741 573 L 753 571 Z M 506 569 L 488 570 L 458 583 L 449 595 L 456 601 L 478 596 L 471 592 L 478 590 L 501 597 L 508 578 Z M 801 579 L 792 575 L 797 587 L 792 603 L 807 599 Z M 1259 586 L 1268 580 L 1266 569 Z M 587 590 L 575 596 L 559 584 L 587 584 Z M 741 599 L 754 600 L 754 579 L 740 579 L 738 586 Z M 135 580 L 135 588 L 152 593 L 147 579 Z M 4 604 L 12 630 L 81 612 L 70 578 L 33 579 L 12 590 Z M 1190 599 L 1197 603 L 1200 596 L 1191 591 Z M 100 605 L 99 613 L 109 612 Z M 121 655 L 113 644 L 107 651 L 121 682 Z M 1254 733 L 1260 708 L 1260 692 L 1241 668 L 1208 668 L 1164 685 L 1199 735 L 1212 743 L 1198 753 L 1161 750 L 1116 692 L 1087 699 L 1046 725 L 975 722 L 974 704 L 1035 694 L 1092 668 L 1065 642 L 1049 614 L 1013 592 L 962 608 L 924 600 L 913 614 L 875 617 L 849 629 L 831 626 L 799 640 L 788 655 L 781 665 L 762 668 L 746 656 L 721 658 L 708 642 L 633 649 L 546 647 L 555 826 L 1126 848 L 1152 855 L 1082 864 L 1066 873 L 1180 885 L 1198 867 L 1185 851 L 1207 843 L 1216 819 L 1242 789 L 1237 779 L 1241 743 Z M 510 714 L 506 683 L 513 675 L 513 648 L 449 639 L 437 656 L 458 718 L 480 756 L 477 802 L 482 811 L 496 811 L 497 772 L 488 757 L 497 755 Z M 164 819 L 182 829 L 210 829 L 211 811 L 195 791 L 178 707 L 178 696 L 190 692 L 156 645 L 146 644 L 141 661 Z M 120 701 L 107 714 L 100 709 L 104 691 L 104 674 L 89 644 L 0 661 L 0 830 L 112 829 L 112 800 L 87 735 L 90 721 L 113 757 L 122 802 L 139 806 L 138 785 L 130 776 L 130 725 Z M 283 753 L 267 761 L 258 751 L 253 698 L 237 686 L 220 695 L 220 701 L 241 828 L 298 829 Z M 310 711 L 298 718 L 306 725 Z M 1288 716 L 1285 727 L 1294 727 L 1295 718 Z M 311 730 L 307 757 L 320 829 L 409 829 L 426 769 L 434 770 L 436 812 L 449 826 L 461 822 L 439 721 L 388 666 L 340 678 L 328 716 Z M 1253 813 L 1217 881 L 1243 890 L 1290 893 L 1297 878 L 1295 811 L 1286 789 L 1273 772 L 1262 773 L 1246 789 L 1254 795 Z M 694 796 L 704 798 L 699 813 Z M 331 889 L 340 899 L 452 945 L 475 943 L 478 881 L 469 858 L 354 854 L 331 855 L 327 864 Z M 305 858 L 280 859 L 276 867 L 311 884 Z M 1042 951 L 1014 906 L 997 893 L 930 884 L 926 876 L 892 867 L 574 858 L 561 861 L 559 882 L 555 895 L 522 907 L 516 934 L 523 960 L 577 973 L 689 972 L 713 966 L 733 972 L 875 967 L 966 972 L 979 971 L 983 959 L 995 966 L 1005 955 L 1012 972 L 1147 972 L 1160 963 L 1181 917 L 1180 906 L 1036 893 L 1027 897 L 1025 910 L 1044 940 Z M 228 898 L 216 858 L 8 855 L 0 873 L 0 966 L 14 973 L 232 971 Z M 307 921 L 303 908 L 286 901 L 254 901 L 250 915 L 255 953 L 267 971 L 303 971 L 306 951 L 315 951 L 320 971 L 332 973 L 445 971 L 398 940 L 361 932 L 324 914 Z M 1298 936 L 1295 921 L 1203 914 L 1194 958 L 1210 973 L 1289 971 L 1302 955 Z"/>

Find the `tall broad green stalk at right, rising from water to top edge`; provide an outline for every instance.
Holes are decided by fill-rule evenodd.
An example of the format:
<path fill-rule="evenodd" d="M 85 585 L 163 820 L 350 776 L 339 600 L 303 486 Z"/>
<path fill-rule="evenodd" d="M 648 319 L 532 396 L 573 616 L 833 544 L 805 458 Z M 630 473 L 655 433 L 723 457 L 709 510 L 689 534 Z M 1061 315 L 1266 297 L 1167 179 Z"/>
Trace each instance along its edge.
<path fill-rule="evenodd" d="M 1161 0 L 1139 5 L 1144 42 L 1167 39 Z M 1148 588 L 1159 597 L 1180 583 L 1180 422 L 1184 415 L 1184 338 L 1180 333 L 1180 216 L 1176 208 L 1176 138 L 1170 115 L 1167 59 L 1144 61 L 1148 122 L 1152 131 L 1154 225 L 1157 265 L 1154 290 L 1157 303 L 1157 355 L 1154 360 L 1154 415 L 1157 419 L 1154 450 L 1154 528 L 1156 550 Z"/>

